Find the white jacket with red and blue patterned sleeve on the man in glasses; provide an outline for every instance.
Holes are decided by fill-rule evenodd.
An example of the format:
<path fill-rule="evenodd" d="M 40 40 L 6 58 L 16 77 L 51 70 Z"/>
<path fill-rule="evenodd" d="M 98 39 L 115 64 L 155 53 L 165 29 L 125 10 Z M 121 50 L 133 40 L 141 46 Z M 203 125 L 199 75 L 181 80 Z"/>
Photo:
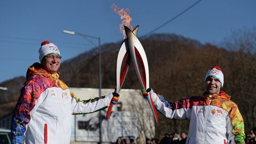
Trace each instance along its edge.
<path fill-rule="evenodd" d="M 13 112 L 13 144 L 69 144 L 72 113 L 93 113 L 109 106 L 113 94 L 80 101 L 59 75 L 40 63 L 28 68 L 27 81 Z"/>

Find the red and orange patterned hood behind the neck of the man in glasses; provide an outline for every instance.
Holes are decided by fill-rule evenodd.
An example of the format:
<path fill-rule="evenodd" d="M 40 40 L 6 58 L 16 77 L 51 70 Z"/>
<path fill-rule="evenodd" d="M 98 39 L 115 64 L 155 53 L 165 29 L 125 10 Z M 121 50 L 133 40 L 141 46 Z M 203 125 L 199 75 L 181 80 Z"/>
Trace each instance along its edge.
<path fill-rule="evenodd" d="M 33 65 L 28 68 L 26 79 L 28 80 L 31 76 L 34 76 L 34 75 L 41 75 L 41 76 L 48 77 L 50 79 L 59 79 L 58 73 L 51 74 L 50 72 L 47 72 L 43 68 L 41 63 L 33 63 Z"/>

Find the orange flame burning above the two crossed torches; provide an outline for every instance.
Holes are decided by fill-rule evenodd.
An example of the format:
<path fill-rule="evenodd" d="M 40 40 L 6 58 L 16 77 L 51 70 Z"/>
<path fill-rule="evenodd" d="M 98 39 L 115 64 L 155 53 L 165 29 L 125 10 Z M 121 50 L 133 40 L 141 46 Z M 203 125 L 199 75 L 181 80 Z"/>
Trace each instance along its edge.
<path fill-rule="evenodd" d="M 117 7 L 117 5 L 113 4 L 111 7 L 114 8 L 114 12 L 119 14 L 119 16 L 121 16 L 121 19 L 124 19 L 122 20 L 122 23 L 120 24 L 120 32 L 124 35 L 124 39 L 126 38 L 125 36 L 125 31 L 124 31 L 124 25 L 126 27 L 129 27 L 130 29 L 132 29 L 132 25 L 130 24 L 130 22 L 132 21 L 132 18 L 129 16 L 130 14 L 130 11 L 129 9 L 119 9 Z"/>

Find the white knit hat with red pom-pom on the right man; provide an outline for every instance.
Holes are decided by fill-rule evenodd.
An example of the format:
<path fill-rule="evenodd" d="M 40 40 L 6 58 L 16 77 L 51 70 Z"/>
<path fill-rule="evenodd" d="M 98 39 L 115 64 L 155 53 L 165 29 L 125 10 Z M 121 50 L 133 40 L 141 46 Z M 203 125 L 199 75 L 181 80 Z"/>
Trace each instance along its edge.
<path fill-rule="evenodd" d="M 211 70 L 208 70 L 208 72 L 205 75 L 204 81 L 208 79 L 208 77 L 215 77 L 221 82 L 221 87 L 224 84 L 224 75 L 221 71 L 221 68 L 218 66 L 213 67 Z"/>

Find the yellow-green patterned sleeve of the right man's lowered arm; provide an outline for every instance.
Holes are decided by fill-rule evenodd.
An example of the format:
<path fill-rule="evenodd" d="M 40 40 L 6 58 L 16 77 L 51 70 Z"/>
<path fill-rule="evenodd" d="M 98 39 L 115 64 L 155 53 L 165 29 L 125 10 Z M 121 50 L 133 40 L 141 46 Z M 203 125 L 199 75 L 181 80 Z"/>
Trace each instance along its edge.
<path fill-rule="evenodd" d="M 231 144 L 245 144 L 244 122 L 236 104 L 229 111 L 230 124 L 227 124 L 227 133 Z"/>

